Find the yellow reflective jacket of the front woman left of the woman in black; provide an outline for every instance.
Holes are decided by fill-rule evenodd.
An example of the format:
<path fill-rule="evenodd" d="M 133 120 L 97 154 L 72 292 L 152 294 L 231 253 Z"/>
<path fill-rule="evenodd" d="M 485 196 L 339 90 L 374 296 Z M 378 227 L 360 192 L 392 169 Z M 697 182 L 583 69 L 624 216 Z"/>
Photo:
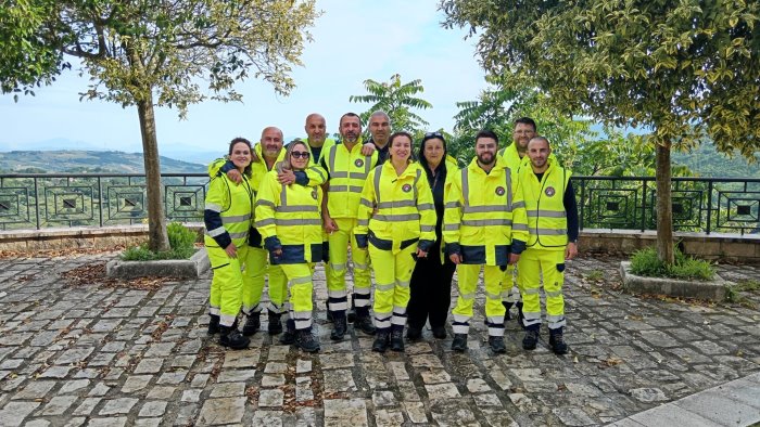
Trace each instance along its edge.
<path fill-rule="evenodd" d="M 396 253 L 423 241 L 420 247 L 427 250 L 435 242 L 435 207 L 422 167 L 410 163 L 401 176 L 391 161 L 372 169 L 364 184 L 357 219 L 355 233 L 369 234 L 380 249 L 390 246 L 388 249 Z"/>

